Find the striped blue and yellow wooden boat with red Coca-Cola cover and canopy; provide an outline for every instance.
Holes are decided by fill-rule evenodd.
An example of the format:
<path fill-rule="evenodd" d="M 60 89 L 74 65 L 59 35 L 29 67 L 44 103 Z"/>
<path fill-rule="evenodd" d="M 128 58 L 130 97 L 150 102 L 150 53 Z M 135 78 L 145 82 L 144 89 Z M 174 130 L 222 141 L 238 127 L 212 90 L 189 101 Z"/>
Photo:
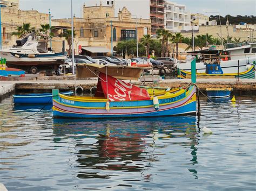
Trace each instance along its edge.
<path fill-rule="evenodd" d="M 124 80 L 138 80 L 145 67 L 77 65 L 77 77 L 98 77 L 94 97 L 65 96 L 52 90 L 53 117 L 126 118 L 196 114 L 196 86 L 149 94 Z M 149 68 L 146 68 L 149 69 Z"/>

